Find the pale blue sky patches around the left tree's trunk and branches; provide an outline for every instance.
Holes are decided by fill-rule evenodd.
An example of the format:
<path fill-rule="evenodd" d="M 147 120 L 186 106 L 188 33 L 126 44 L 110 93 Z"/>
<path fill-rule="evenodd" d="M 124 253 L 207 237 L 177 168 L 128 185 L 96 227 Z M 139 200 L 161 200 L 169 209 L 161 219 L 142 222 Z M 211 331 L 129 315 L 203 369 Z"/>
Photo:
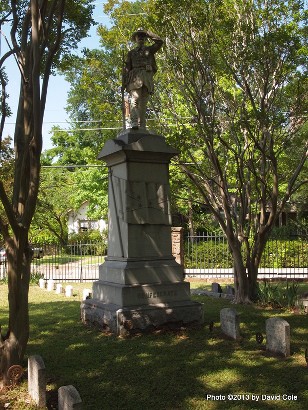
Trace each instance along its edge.
<path fill-rule="evenodd" d="M 110 21 L 103 12 L 104 3 L 106 3 L 106 1 L 93 1 L 93 4 L 95 5 L 93 19 L 98 24 L 108 25 L 110 24 Z M 1 30 L 9 39 L 9 26 L 3 25 Z M 96 30 L 97 26 L 91 27 L 89 37 L 85 38 L 80 43 L 76 53 L 80 53 L 84 47 L 92 49 L 99 47 L 99 38 Z M 1 55 L 3 55 L 7 50 L 8 46 L 5 38 L 1 36 Z M 9 61 L 6 63 L 6 72 L 9 77 L 9 83 L 7 86 L 7 92 L 9 94 L 8 104 L 12 110 L 12 115 L 6 121 L 3 137 L 10 135 L 13 138 L 20 86 L 20 75 L 13 56 L 10 57 Z M 14 81 L 14 79 L 16 80 Z M 43 150 L 52 147 L 52 143 L 50 141 L 50 130 L 54 125 L 58 124 L 61 128 L 68 128 L 69 118 L 65 111 L 65 106 L 69 87 L 69 83 L 65 81 L 63 76 L 56 75 L 50 77 L 43 122 Z"/>

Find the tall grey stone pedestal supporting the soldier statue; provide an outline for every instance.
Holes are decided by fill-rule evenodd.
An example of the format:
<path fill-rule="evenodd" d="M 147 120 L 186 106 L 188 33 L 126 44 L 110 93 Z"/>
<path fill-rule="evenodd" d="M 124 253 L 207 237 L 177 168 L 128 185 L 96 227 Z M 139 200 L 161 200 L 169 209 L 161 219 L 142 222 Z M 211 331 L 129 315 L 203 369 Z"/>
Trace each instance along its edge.
<path fill-rule="evenodd" d="M 146 52 L 139 70 L 143 59 L 150 70 Z M 202 323 L 203 306 L 191 301 L 184 268 L 172 256 L 169 163 L 175 155 L 143 120 L 100 152 L 109 169 L 108 255 L 92 299 L 81 304 L 84 323 L 118 335 Z"/>

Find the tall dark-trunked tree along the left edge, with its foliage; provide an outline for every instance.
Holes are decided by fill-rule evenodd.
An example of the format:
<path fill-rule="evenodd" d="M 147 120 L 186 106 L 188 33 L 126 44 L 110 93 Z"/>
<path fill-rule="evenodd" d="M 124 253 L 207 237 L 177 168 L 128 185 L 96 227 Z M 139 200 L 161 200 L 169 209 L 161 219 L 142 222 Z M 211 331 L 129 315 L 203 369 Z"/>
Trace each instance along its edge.
<path fill-rule="evenodd" d="M 0 59 L 1 124 L 8 115 L 6 60 L 14 57 L 20 72 L 12 195 L 6 192 L 0 176 L 0 200 L 5 210 L 5 217 L 0 216 L 0 230 L 6 245 L 9 292 L 8 329 L 0 337 L 0 373 L 5 382 L 7 369 L 22 362 L 29 338 L 28 290 L 32 250 L 28 233 L 39 189 L 48 81 L 61 58 L 77 47 L 92 24 L 90 3 L 89 0 L 1 2 L 0 25 L 10 26 L 7 39 L 10 48 Z"/>

